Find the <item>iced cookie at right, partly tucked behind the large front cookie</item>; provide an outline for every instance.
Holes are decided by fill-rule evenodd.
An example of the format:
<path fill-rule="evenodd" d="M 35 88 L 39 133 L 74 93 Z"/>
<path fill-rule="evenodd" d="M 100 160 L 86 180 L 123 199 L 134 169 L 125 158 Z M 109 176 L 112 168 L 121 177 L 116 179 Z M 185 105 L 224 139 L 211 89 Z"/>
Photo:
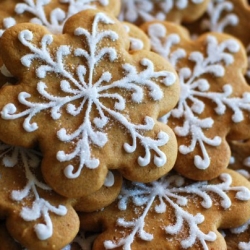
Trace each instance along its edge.
<path fill-rule="evenodd" d="M 175 169 L 197 180 L 218 176 L 228 166 L 228 140 L 250 135 L 247 60 L 238 40 L 209 33 L 193 41 L 186 30 L 167 22 L 142 27 L 152 50 L 168 59 L 180 77 L 181 97 L 160 120 L 177 135 Z"/>

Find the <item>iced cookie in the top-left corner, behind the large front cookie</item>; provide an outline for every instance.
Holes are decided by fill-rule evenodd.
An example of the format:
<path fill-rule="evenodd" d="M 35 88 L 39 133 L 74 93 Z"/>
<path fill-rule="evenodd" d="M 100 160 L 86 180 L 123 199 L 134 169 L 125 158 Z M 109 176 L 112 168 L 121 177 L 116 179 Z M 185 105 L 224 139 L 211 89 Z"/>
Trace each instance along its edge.
<path fill-rule="evenodd" d="M 0 9 L 0 36 L 16 23 L 32 22 L 61 33 L 65 21 L 86 9 L 101 9 L 117 15 L 120 0 L 3 0 Z"/>

